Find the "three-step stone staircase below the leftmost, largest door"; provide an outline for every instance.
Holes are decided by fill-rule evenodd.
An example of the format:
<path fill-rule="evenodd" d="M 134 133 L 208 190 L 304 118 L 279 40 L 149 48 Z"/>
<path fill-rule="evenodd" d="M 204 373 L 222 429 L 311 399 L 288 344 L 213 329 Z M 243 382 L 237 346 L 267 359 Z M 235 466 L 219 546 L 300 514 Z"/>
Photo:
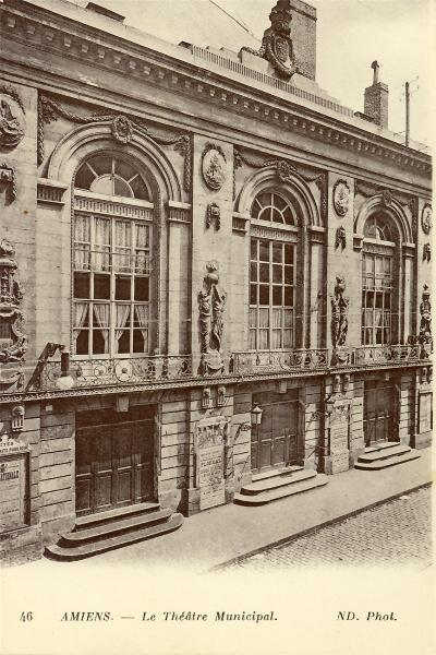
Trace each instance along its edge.
<path fill-rule="evenodd" d="M 73 532 L 46 547 L 50 559 L 72 561 L 136 544 L 178 529 L 182 514 L 144 502 L 98 514 L 81 516 Z"/>

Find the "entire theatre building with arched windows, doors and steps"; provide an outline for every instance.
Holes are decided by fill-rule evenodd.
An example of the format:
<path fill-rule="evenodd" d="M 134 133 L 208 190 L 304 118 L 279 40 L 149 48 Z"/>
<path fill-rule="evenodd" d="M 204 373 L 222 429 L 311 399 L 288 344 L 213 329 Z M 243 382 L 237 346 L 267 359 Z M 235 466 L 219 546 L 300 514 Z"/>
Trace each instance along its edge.
<path fill-rule="evenodd" d="M 377 62 L 363 111 L 319 88 L 313 7 L 228 35 L 0 3 L 4 561 L 401 475 L 431 443 L 429 154 L 389 131 Z"/>

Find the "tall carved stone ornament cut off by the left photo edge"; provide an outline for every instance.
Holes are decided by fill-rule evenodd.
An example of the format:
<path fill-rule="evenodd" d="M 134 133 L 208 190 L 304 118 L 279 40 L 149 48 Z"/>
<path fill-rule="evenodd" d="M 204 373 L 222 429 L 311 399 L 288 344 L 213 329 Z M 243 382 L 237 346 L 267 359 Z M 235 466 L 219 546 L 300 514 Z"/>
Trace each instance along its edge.
<path fill-rule="evenodd" d="M 13 259 L 13 246 L 2 239 L 0 242 L 0 364 L 22 361 L 27 350 L 27 338 L 23 332 L 23 313 L 19 309 L 23 299 L 20 283 L 14 279 L 17 269 Z M 4 336 L 5 335 L 5 336 Z"/>

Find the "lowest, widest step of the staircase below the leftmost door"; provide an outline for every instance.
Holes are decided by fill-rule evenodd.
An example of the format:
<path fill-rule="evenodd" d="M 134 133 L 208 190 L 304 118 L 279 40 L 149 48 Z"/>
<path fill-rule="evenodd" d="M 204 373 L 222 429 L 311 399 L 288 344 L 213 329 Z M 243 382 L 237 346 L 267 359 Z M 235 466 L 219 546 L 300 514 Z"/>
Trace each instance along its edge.
<path fill-rule="evenodd" d="M 61 561 L 85 559 L 87 557 L 101 555 L 108 550 L 114 550 L 116 548 L 130 546 L 131 544 L 136 544 L 137 541 L 145 541 L 146 539 L 174 532 L 174 529 L 178 529 L 182 523 L 182 514 L 175 513 L 172 514 L 169 521 L 165 521 L 164 523 L 158 523 L 157 525 L 152 525 L 149 527 L 133 532 L 126 532 L 116 536 L 109 536 L 105 539 L 82 544 L 73 548 L 68 548 L 61 546 L 60 544 L 47 546 L 46 556 L 50 559 L 57 559 Z"/>

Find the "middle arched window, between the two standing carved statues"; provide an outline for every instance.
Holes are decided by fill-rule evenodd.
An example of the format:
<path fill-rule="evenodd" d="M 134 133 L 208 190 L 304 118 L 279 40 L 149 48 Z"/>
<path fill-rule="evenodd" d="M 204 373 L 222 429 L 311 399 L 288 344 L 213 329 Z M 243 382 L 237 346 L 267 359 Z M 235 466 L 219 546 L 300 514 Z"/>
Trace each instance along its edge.
<path fill-rule="evenodd" d="M 295 345 L 295 209 L 276 191 L 259 193 L 251 210 L 250 343 L 252 350 Z M 262 229 L 264 222 L 271 228 Z"/>

